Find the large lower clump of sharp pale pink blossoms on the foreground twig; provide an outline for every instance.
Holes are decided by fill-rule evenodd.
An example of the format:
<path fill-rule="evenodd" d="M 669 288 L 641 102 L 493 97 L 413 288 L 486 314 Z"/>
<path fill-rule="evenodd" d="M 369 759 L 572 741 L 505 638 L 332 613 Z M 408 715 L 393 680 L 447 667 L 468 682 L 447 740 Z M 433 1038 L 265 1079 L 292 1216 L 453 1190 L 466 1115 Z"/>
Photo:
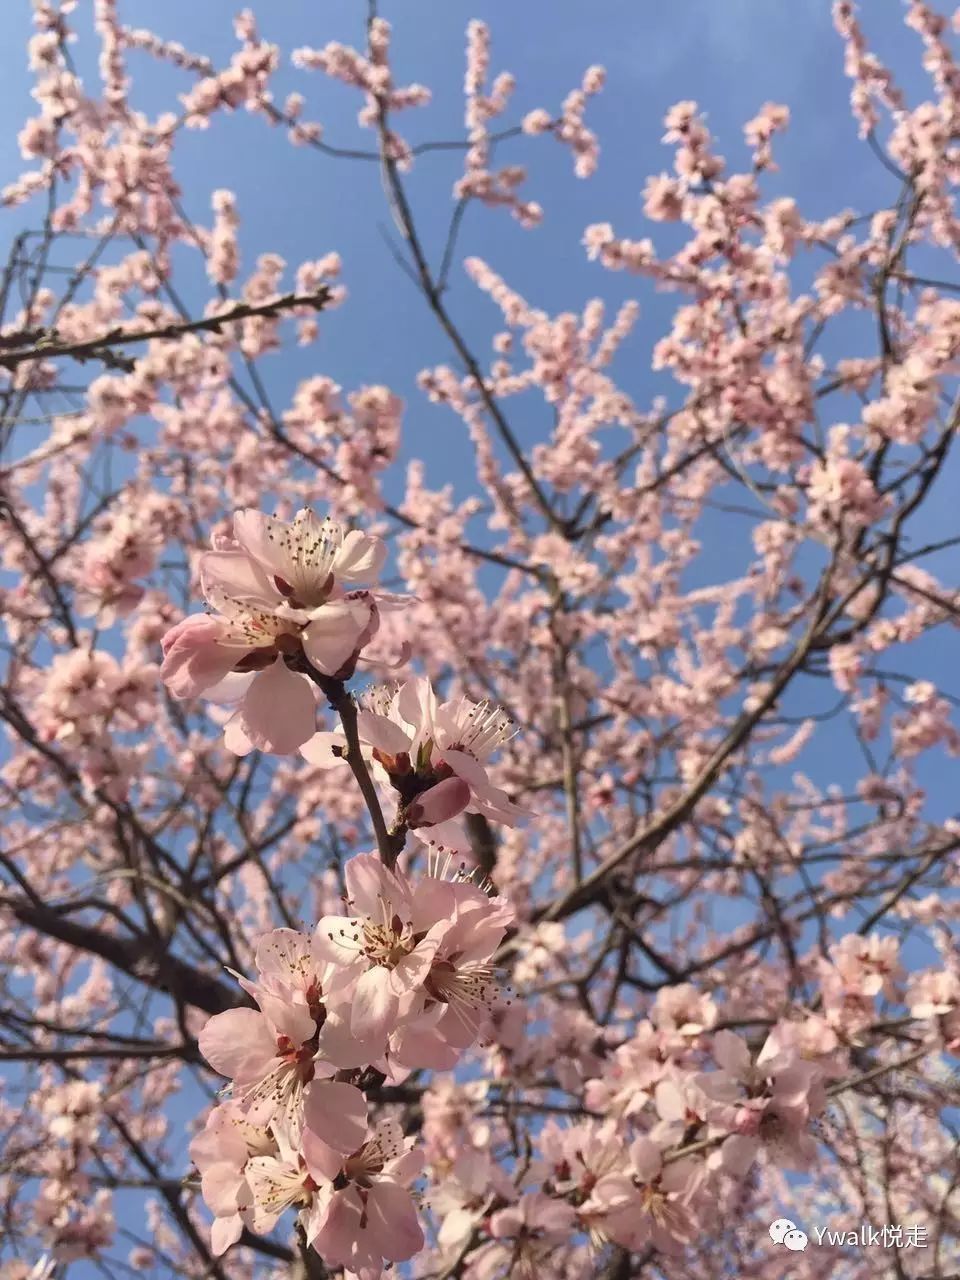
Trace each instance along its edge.
<path fill-rule="evenodd" d="M 413 1069 L 449 1069 L 498 1004 L 490 960 L 512 920 L 474 878 L 411 878 L 375 854 L 344 870 L 348 914 L 312 934 L 274 929 L 239 983 L 256 1007 L 211 1018 L 200 1036 L 230 1078 L 191 1144 L 211 1243 L 270 1231 L 298 1211 L 306 1240 L 361 1280 L 424 1243 L 410 1192 L 422 1152 L 396 1119 L 372 1123 L 364 1088 Z"/>

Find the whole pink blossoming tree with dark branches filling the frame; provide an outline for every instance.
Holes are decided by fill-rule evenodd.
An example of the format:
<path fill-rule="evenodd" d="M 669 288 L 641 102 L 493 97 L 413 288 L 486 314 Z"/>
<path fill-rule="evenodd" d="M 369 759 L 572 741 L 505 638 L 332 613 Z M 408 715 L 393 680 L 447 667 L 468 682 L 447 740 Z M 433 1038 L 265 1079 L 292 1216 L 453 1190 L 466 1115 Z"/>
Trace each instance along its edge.
<path fill-rule="evenodd" d="M 955 1274 L 960 820 L 924 771 L 960 751 L 960 531 L 929 518 L 960 22 L 906 5 L 916 104 L 833 6 L 883 207 L 771 195 L 776 104 L 741 170 L 669 108 L 649 236 L 582 234 L 598 294 L 675 296 L 641 342 L 636 302 L 552 315 L 465 244 L 486 205 L 535 252 L 517 156 L 590 178 L 599 67 L 515 116 L 471 22 L 466 128 L 415 145 L 430 92 L 375 8 L 294 50 L 243 13 L 225 65 L 123 8 L 33 0 L 3 192 L 0 1276 Z M 134 106 L 145 59 L 166 109 Z M 465 500 L 404 445 L 417 404 L 325 366 L 335 247 L 251 269 L 236 197 L 180 191 L 238 109 L 379 166 Z"/>

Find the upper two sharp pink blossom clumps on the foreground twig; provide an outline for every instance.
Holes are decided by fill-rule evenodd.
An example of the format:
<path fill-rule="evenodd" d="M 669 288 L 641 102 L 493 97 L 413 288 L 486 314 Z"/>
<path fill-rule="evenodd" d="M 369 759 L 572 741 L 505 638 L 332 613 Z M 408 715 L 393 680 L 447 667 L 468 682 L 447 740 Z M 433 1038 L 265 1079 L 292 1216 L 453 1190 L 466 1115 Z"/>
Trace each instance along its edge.
<path fill-rule="evenodd" d="M 383 608 L 406 596 L 376 590 L 385 547 L 379 538 L 303 508 L 292 522 L 237 512 L 233 538 L 200 557 L 204 595 L 215 612 L 192 614 L 163 637 L 160 676 L 174 698 L 225 707 L 224 741 L 296 750 L 312 764 L 347 758 L 343 730 L 316 731 L 320 690 L 353 675 L 376 635 Z M 335 696 L 335 694 L 334 694 Z M 425 677 L 360 699 L 361 754 L 397 795 L 398 829 L 417 829 L 439 849 L 470 849 L 465 812 L 515 826 L 525 810 L 490 781 L 485 762 L 513 736 L 509 717 L 486 703 L 440 703 Z"/>

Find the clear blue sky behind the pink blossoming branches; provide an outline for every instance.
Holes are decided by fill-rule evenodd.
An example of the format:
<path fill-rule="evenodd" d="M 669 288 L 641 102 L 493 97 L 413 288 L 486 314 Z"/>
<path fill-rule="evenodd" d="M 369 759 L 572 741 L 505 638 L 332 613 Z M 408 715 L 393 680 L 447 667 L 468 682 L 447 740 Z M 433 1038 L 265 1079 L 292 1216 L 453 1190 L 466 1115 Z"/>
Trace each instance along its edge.
<path fill-rule="evenodd" d="M 88 0 L 82 0 L 76 15 L 84 35 L 91 8 Z M 225 65 L 237 47 L 232 31 L 237 8 L 225 0 L 119 0 L 123 22 L 180 40 L 218 65 Z M 285 52 L 329 40 L 362 45 L 361 0 L 261 0 L 253 8 L 265 38 L 278 42 Z M 791 127 L 774 145 L 781 172 L 771 175 L 765 189 L 771 195 L 796 195 L 810 216 L 847 206 L 879 207 L 895 195 L 890 175 L 858 141 L 847 106 L 842 46 L 833 33 L 829 10 L 829 0 L 388 0 L 383 14 L 396 28 L 398 79 L 420 81 L 434 91 L 430 108 L 407 113 L 397 123 L 413 142 L 462 136 L 463 31 L 472 17 L 485 19 L 492 28 L 493 72 L 508 69 L 517 77 L 507 124 L 535 106 L 556 111 L 585 67 L 607 67 L 607 87 L 588 110 L 588 123 L 602 142 L 596 177 L 590 182 L 576 179 L 568 151 L 550 138 L 504 146 L 498 157 L 529 165 L 525 195 L 545 206 L 545 223 L 527 232 L 502 211 L 474 207 L 461 239 L 461 260 L 465 252 L 479 255 L 547 311 L 580 308 L 596 294 L 608 300 L 613 311 L 623 298 L 639 297 L 641 321 L 617 371 L 643 407 L 669 389 L 649 371 L 649 349 L 666 332 L 676 300 L 589 262 L 581 236 L 590 223 L 612 221 L 623 236 L 652 234 L 655 242 L 663 242 L 663 228 L 643 219 L 640 192 L 649 174 L 671 165 L 671 148 L 659 141 L 662 118 L 671 104 L 695 99 L 708 113 L 717 148 L 735 166 L 748 163 L 744 122 L 768 100 L 788 105 Z M 928 82 L 919 65 L 919 41 L 904 29 L 901 15 L 899 0 L 873 0 L 864 20 L 878 51 L 891 56 L 901 73 L 908 96 L 918 101 L 928 96 Z M 15 133 L 32 106 L 23 51 L 29 18 L 28 0 L 4 0 L 0 186 L 24 168 Z M 93 77 L 93 45 L 83 38 L 74 54 L 79 70 Z M 143 55 L 132 55 L 131 65 L 134 78 L 140 77 L 134 105 L 147 114 L 175 108 L 175 95 L 192 83 L 183 73 L 157 69 Z M 328 142 L 372 145 L 371 136 L 356 125 L 361 105 L 356 91 L 287 64 L 275 83 L 278 99 L 292 90 L 306 95 L 306 115 L 323 122 Z M 466 497 L 472 466 L 465 433 L 416 390 L 417 371 L 451 361 L 451 352 L 384 243 L 389 216 L 378 166 L 292 148 L 278 132 L 246 113 L 218 118 L 209 131 L 186 133 L 177 154 L 184 204 L 197 221 L 209 220 L 211 191 L 228 187 L 237 193 L 244 270 L 252 269 L 256 256 L 265 251 L 279 252 L 292 269 L 330 250 L 343 257 L 349 298 L 342 310 L 321 319 L 320 343 L 265 362 L 274 403 L 287 404 L 297 380 L 315 372 L 330 374 L 347 390 L 365 383 L 387 383 L 407 401 L 403 458 L 425 457 L 428 484 L 451 481 L 458 497 Z M 458 172 L 458 156 L 442 154 L 419 161 L 410 178 L 417 223 L 434 261 L 443 246 L 453 207 L 451 187 Z M 0 251 L 5 253 L 12 238 L 38 220 L 36 206 L 0 210 Z M 63 252 L 63 260 L 69 261 Z M 489 335 L 499 326 L 499 314 L 476 294 L 457 266 L 452 284 L 453 315 L 483 361 Z M 204 291 L 202 280 L 198 287 L 183 287 L 186 296 L 195 300 L 202 300 Z M 541 403 L 518 403 L 516 421 L 521 439 L 539 439 Z M 401 492 L 398 467 L 388 494 L 397 498 Z M 952 504 L 941 486 L 927 526 L 932 535 L 942 532 L 948 516 Z M 952 522 L 950 527 L 952 531 Z M 723 548 L 724 531 L 719 532 L 718 547 Z M 728 538 L 731 543 L 742 538 L 740 526 L 731 526 Z M 934 562 L 929 567 L 934 568 Z M 947 669 L 943 632 L 937 632 L 927 653 L 936 678 Z M 832 692 L 824 690 L 823 700 L 832 701 Z M 822 756 L 822 767 L 833 768 L 845 750 L 835 745 Z M 947 768 L 941 763 L 923 772 L 941 792 L 932 809 L 945 812 L 950 808 Z"/>

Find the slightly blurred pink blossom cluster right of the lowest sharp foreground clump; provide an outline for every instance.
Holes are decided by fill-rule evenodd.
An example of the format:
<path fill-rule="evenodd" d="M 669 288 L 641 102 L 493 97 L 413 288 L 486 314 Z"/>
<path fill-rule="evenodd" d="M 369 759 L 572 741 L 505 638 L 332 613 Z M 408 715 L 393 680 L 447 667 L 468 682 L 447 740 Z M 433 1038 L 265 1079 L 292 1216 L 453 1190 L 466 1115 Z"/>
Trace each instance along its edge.
<path fill-rule="evenodd" d="M 522 1005 L 513 1007 L 522 1019 Z M 554 1043 L 538 1071 L 582 1094 L 588 1114 L 549 1117 L 534 1158 L 515 1178 L 483 1126 L 451 1125 L 439 1096 L 425 1106 L 440 1266 L 471 1238 L 471 1275 L 483 1280 L 585 1274 L 609 1242 L 678 1257 L 717 1221 L 724 1196 L 758 1160 L 792 1170 L 814 1162 L 812 1121 L 824 1110 L 826 1080 L 837 1074 L 838 1042 L 824 1020 L 785 1020 L 749 1044 L 716 1025 L 709 996 L 678 984 L 660 993 L 635 1034 L 598 1052 L 585 1042 L 585 1023 L 566 1021 L 568 1056 L 563 1042 Z M 512 1046 L 522 1079 L 522 1034 L 502 1021 L 499 1041 Z M 488 1082 L 477 1088 L 488 1096 Z M 584 1239 L 588 1248 L 577 1243 Z"/>

